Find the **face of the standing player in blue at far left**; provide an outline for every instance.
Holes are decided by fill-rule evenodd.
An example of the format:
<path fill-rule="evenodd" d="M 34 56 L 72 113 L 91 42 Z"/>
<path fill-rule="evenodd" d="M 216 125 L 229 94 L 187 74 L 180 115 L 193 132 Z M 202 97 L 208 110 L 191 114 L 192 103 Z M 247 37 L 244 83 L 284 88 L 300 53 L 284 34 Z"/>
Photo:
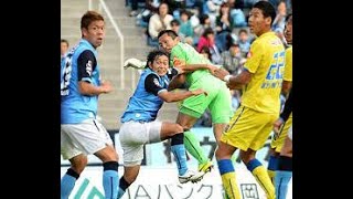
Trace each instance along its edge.
<path fill-rule="evenodd" d="M 86 40 L 88 40 L 89 43 L 94 48 L 98 48 L 103 43 L 103 39 L 105 36 L 105 24 L 104 21 L 97 20 L 93 21 L 88 29 L 83 29 L 83 34 Z"/>

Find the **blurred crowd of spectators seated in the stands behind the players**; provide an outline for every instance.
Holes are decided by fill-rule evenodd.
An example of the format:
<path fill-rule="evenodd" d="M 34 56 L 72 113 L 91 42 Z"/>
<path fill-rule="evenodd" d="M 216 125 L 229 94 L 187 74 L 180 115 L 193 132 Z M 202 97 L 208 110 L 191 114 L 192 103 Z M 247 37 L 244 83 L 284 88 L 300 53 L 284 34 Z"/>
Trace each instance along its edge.
<path fill-rule="evenodd" d="M 255 36 L 247 24 L 248 12 L 258 0 L 127 0 L 130 17 L 146 28 L 147 44 L 158 46 L 161 30 L 174 30 L 182 42 L 194 46 L 213 64 L 231 74 L 242 71 Z M 269 0 L 277 8 L 272 31 L 284 41 L 285 20 L 291 13 L 289 0 Z M 232 92 L 232 106 L 240 104 L 239 91 Z M 285 97 L 281 96 L 284 103 Z M 211 126 L 205 113 L 196 125 Z"/>

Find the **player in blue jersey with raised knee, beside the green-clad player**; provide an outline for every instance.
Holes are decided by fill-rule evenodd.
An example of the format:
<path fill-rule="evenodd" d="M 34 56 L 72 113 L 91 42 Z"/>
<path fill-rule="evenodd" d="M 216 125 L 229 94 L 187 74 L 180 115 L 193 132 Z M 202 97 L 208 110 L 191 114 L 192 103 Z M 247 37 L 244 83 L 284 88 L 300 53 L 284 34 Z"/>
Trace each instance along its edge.
<path fill-rule="evenodd" d="M 143 145 L 171 138 L 171 150 L 176 159 L 179 181 L 201 180 L 203 172 L 188 169 L 183 128 L 179 124 L 156 121 L 163 102 L 182 101 L 205 95 L 203 90 L 169 92 L 169 56 L 162 51 L 152 51 L 147 57 L 137 88 L 121 116 L 119 138 L 124 149 L 124 176 L 120 178 L 119 198 L 136 180 L 143 159 Z M 176 74 L 176 71 L 171 71 Z M 172 74 L 171 74 L 172 75 Z"/>

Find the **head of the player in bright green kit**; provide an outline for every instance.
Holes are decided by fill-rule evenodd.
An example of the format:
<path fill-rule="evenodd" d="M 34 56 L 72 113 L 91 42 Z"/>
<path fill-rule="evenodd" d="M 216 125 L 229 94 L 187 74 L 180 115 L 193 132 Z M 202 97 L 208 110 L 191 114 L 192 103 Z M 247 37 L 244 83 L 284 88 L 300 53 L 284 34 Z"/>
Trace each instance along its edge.
<path fill-rule="evenodd" d="M 159 41 L 159 46 L 163 51 L 170 53 L 173 46 L 175 46 L 179 43 L 180 39 L 176 32 L 172 30 L 162 30 L 158 34 L 158 41 Z"/>

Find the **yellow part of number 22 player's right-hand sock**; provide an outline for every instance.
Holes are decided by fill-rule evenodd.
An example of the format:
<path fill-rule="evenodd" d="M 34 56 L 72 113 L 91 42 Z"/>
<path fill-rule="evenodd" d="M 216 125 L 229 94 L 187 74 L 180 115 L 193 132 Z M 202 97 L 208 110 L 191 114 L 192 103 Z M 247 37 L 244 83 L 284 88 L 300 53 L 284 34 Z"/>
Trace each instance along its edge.
<path fill-rule="evenodd" d="M 256 181 L 263 187 L 266 192 L 267 199 L 276 199 L 275 186 L 269 178 L 266 168 L 261 165 L 256 167 L 253 171 Z"/>

